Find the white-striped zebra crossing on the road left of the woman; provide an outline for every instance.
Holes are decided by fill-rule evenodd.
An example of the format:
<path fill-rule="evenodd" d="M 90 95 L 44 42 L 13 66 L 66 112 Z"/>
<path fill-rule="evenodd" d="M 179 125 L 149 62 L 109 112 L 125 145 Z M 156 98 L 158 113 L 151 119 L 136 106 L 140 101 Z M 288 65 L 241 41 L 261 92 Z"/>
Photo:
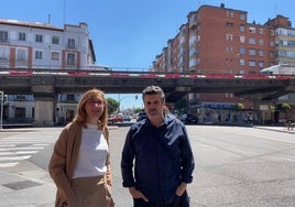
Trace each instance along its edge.
<path fill-rule="evenodd" d="M 4 132 L 6 133 L 6 132 Z M 56 141 L 56 135 L 40 132 L 8 133 L 0 137 L 0 170 L 17 166 Z"/>

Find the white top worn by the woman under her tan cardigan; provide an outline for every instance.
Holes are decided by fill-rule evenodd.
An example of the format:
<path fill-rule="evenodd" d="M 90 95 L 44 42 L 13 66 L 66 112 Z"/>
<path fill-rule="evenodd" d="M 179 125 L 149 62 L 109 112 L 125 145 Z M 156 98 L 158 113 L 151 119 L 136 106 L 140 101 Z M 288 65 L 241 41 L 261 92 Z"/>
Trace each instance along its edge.
<path fill-rule="evenodd" d="M 105 175 L 109 152 L 107 140 L 97 126 L 87 124 L 81 131 L 81 144 L 73 178 Z"/>

